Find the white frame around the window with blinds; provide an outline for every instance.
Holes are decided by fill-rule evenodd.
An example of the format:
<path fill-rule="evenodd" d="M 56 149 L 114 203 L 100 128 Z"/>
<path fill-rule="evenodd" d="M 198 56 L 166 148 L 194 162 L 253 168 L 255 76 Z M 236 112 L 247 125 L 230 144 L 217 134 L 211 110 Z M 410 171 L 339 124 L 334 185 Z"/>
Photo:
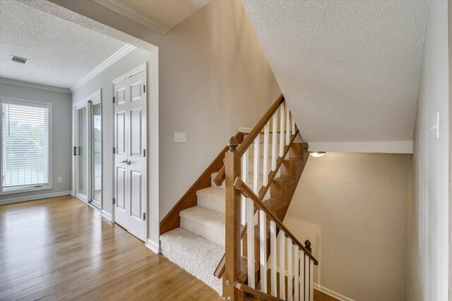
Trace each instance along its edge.
<path fill-rule="evenodd" d="M 3 194 L 19 194 L 21 192 L 27 192 L 27 191 L 40 191 L 40 190 L 47 190 L 52 189 L 53 184 L 53 178 L 52 178 L 52 149 L 53 149 L 53 143 L 52 143 L 52 102 L 42 102 L 37 100 L 24 100 L 20 98 L 7 98 L 4 96 L 0 96 L 0 107 L 3 103 L 11 103 L 12 105 L 28 105 L 28 106 L 35 106 L 35 107 L 46 107 L 49 109 L 49 119 L 48 119 L 48 141 L 49 141 L 49 150 L 47 155 L 49 158 L 47 158 L 47 162 L 49 163 L 49 166 L 47 166 L 47 185 L 43 185 L 42 187 L 32 187 L 32 186 L 23 186 L 23 187 L 15 187 L 15 188 L 3 188 L 3 179 L 1 179 L 0 182 L 0 195 Z M 3 133 L 3 116 L 0 114 L 0 133 Z M 0 160 L 3 160 L 3 146 L 1 145 L 3 143 L 3 138 L 0 138 Z M 3 176 L 3 164 L 0 164 L 0 176 Z"/>

